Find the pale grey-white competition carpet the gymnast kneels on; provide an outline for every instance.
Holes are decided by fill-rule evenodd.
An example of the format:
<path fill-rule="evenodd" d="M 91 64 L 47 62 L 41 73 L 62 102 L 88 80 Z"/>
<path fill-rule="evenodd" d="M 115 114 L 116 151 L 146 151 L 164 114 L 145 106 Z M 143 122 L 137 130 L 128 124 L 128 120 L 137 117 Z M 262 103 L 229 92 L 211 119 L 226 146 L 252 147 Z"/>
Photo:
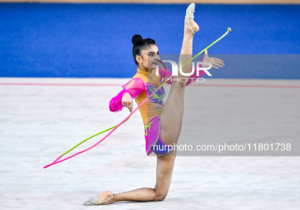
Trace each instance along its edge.
<path fill-rule="evenodd" d="M 84 206 L 88 198 L 107 190 L 155 186 L 156 158 L 145 153 L 139 111 L 90 151 L 43 168 L 129 114 L 108 107 L 121 90 L 110 84 L 126 81 L 0 78 L 0 209 L 299 209 L 299 156 L 178 156 L 164 201 Z M 207 79 L 204 84 L 211 86 L 186 88 L 186 109 L 193 103 L 190 94 L 198 91 L 202 99 L 197 101 L 202 133 L 194 134 L 199 143 L 299 140 L 299 80 Z"/>

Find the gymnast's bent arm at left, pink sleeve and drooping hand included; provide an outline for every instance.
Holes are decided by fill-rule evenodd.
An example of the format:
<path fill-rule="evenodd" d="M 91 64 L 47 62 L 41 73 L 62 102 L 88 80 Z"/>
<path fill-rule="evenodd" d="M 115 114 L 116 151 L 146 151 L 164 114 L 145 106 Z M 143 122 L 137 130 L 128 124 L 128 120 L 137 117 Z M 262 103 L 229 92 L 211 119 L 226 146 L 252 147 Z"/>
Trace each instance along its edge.
<path fill-rule="evenodd" d="M 123 90 L 109 102 L 109 109 L 112 112 L 121 111 L 124 106 L 131 111 L 133 108 L 132 98 L 136 98 L 145 90 L 144 81 L 141 78 L 131 79 L 122 87 Z"/>

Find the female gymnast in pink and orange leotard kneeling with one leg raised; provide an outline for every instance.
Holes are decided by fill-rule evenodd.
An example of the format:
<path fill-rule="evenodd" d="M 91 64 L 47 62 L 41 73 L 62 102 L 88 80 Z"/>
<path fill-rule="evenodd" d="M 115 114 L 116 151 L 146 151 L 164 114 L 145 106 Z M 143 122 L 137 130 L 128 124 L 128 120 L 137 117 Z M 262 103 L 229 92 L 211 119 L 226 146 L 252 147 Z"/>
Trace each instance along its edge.
<path fill-rule="evenodd" d="M 186 10 L 183 43 L 179 58 L 179 62 L 182 62 L 182 64 L 191 59 L 193 36 L 199 30 L 199 26 L 193 20 L 194 7 L 195 4 L 192 3 Z M 132 37 L 132 44 L 134 45 L 132 53 L 138 66 L 137 74 L 124 84 L 122 86 L 123 90 L 110 101 L 110 110 L 114 112 L 122 110 L 122 107 L 126 107 L 131 111 L 133 109 L 132 98 L 135 98 L 137 104 L 140 105 L 162 83 L 161 78 L 168 78 L 172 74 L 169 70 L 159 68 L 159 76 L 156 76 L 159 52 L 153 39 L 143 39 L 140 35 L 135 35 Z M 211 63 L 212 67 L 216 69 L 222 67 L 221 65 L 224 66 L 222 60 L 208 57 L 207 50 L 202 61 Z M 182 72 L 190 73 L 191 68 L 192 64 L 190 62 L 182 67 Z M 156 185 L 154 189 L 139 188 L 118 194 L 106 191 L 91 197 L 84 205 L 103 205 L 117 201 L 164 200 L 169 191 L 177 151 L 172 149 L 169 152 L 168 147 L 164 147 L 166 148 L 164 149 L 163 145 L 177 144 L 182 126 L 184 89 L 192 80 L 195 81 L 196 78 L 205 74 L 204 71 L 199 73 L 201 74 L 198 76 L 196 76 L 196 71 L 191 76 L 183 76 L 180 73 L 178 76 L 173 76 L 173 81 L 168 80 L 167 82 L 171 84 L 171 89 L 165 104 L 162 101 L 164 89 L 161 87 L 155 95 L 139 108 L 145 128 L 146 153 L 149 155 L 154 152 L 157 156 Z M 186 79 L 180 81 L 180 78 Z"/>

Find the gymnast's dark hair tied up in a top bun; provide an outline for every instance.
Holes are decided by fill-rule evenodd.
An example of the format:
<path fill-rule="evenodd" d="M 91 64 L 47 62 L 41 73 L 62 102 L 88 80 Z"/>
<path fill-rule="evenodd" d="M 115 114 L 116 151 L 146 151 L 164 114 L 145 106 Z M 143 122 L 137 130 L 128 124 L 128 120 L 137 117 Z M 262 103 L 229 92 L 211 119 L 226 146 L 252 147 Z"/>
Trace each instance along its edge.
<path fill-rule="evenodd" d="M 141 55 L 142 51 L 149 48 L 150 45 L 155 44 L 155 41 L 153 39 L 147 38 L 143 39 L 141 35 L 136 34 L 135 36 L 132 37 L 132 44 L 134 46 L 132 47 L 132 54 L 134 54 L 134 60 L 136 65 L 138 66 L 138 62 L 136 60 L 137 55 Z"/>

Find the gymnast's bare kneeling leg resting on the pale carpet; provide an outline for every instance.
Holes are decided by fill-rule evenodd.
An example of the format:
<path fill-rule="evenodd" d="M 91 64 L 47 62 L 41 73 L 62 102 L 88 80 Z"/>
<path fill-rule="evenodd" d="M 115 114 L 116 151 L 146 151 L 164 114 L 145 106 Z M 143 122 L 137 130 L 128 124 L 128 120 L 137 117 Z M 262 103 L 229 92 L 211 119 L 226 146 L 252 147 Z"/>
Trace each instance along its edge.
<path fill-rule="evenodd" d="M 172 156 L 157 157 L 156 165 L 156 185 L 154 188 L 139 188 L 124 193 L 113 194 L 110 191 L 106 191 L 98 195 L 99 201 L 107 200 L 114 197 L 101 205 L 110 204 L 118 201 L 162 201 L 168 194 L 171 178 L 174 168 L 174 162 L 176 157 L 176 151 Z"/>

